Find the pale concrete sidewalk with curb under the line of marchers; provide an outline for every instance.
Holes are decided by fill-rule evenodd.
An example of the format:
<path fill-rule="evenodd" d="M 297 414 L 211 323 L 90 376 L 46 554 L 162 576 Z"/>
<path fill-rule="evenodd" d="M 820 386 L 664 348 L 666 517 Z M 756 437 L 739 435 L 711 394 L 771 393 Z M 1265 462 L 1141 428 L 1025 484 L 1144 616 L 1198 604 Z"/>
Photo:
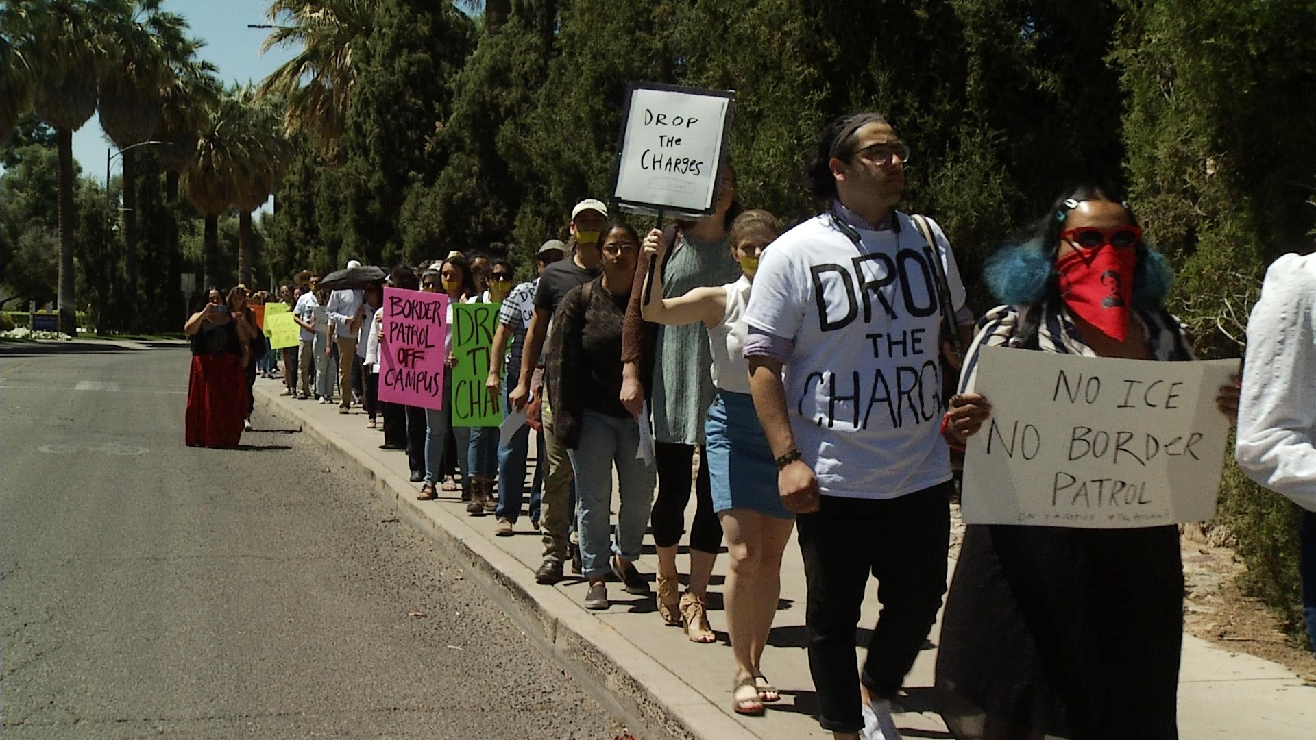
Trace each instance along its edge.
<path fill-rule="evenodd" d="M 719 561 L 708 598 L 716 644 L 690 643 L 679 628 L 662 624 L 653 598 L 632 596 L 619 583 L 609 583 L 613 606 L 608 611 L 587 611 L 582 606 L 586 585 L 579 578 L 557 586 L 534 582 L 541 545 L 538 533 L 529 531 L 528 517 L 521 517 L 516 536 L 495 537 L 494 517 L 468 516 L 455 492 L 441 492 L 433 502 L 415 500 L 417 485 L 407 479 L 405 454 L 378 449 L 383 435 L 366 428 L 366 417 L 358 408 L 340 415 L 333 404 L 276 395 L 282 390 L 280 381 L 257 381 L 259 399 L 301 424 L 349 471 L 368 482 L 375 495 L 393 506 L 403 520 L 470 566 L 472 575 L 505 604 L 522 629 L 562 658 L 572 674 L 605 694 L 609 708 L 632 722 L 637 736 L 830 737 L 815 719 L 817 700 L 804 650 L 804 569 L 794 541 L 786 550 L 782 600 L 763 654 L 763 672 L 782 690 L 782 700 L 767 704 L 765 716 L 742 718 L 732 712 L 733 661 L 720 593 L 724 561 Z M 657 569 L 653 553 L 653 541 L 646 537 L 638 566 L 650 581 Z M 684 570 L 686 557 L 678 564 Z M 954 562 L 950 566 L 953 571 Z M 861 625 L 871 627 L 879 608 L 876 589 L 869 589 Z M 930 703 L 933 645 L 938 633 L 940 624 L 905 682 L 908 697 L 903 703 L 909 711 L 898 715 L 896 724 L 907 737 L 950 737 Z M 859 650 L 855 653 L 858 657 Z M 1316 687 L 1304 685 L 1282 665 L 1186 636 L 1179 727 L 1180 736 L 1194 739 L 1307 740 L 1316 728 Z"/>

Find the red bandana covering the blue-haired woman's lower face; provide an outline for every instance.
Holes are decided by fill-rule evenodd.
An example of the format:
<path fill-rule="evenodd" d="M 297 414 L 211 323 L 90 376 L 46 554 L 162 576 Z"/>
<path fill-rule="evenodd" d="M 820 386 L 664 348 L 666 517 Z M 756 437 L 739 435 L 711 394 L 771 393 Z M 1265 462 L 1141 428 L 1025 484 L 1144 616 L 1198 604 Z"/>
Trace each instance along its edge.
<path fill-rule="evenodd" d="M 1133 307 L 1133 269 L 1137 251 L 1101 245 L 1080 249 L 1055 263 L 1061 275 L 1061 298 L 1103 334 L 1124 341 Z"/>

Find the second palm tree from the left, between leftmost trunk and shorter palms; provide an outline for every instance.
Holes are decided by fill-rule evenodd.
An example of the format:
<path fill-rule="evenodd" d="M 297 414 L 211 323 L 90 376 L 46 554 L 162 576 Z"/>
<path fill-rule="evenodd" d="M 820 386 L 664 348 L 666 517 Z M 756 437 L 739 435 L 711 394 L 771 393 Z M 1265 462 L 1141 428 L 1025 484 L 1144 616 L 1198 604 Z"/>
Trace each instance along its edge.
<path fill-rule="evenodd" d="M 159 128 L 161 91 L 174 83 L 174 70 L 200 46 L 187 40 L 187 21 L 159 9 L 161 0 L 112 0 L 107 18 L 113 34 L 100 76 L 100 126 L 122 150 L 124 263 L 128 294 L 137 295 L 137 178 L 134 144 Z M 136 303 L 134 303 L 136 305 Z M 134 327 L 136 328 L 136 327 Z"/>

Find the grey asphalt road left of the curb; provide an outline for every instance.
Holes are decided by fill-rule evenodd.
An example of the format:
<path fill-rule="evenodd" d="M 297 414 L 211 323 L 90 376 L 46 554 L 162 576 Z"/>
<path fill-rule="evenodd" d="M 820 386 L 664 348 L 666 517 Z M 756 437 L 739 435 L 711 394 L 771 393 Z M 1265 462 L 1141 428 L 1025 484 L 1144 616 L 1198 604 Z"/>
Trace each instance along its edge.
<path fill-rule="evenodd" d="M 5 740 L 622 732 L 300 433 L 257 408 L 247 449 L 187 448 L 186 349 L 30 348 L 0 348 Z"/>

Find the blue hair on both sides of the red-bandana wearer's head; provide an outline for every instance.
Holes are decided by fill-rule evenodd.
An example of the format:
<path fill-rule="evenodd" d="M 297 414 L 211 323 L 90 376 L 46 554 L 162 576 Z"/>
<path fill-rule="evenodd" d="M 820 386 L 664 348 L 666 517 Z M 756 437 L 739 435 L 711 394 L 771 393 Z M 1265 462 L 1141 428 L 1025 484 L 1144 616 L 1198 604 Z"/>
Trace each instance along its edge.
<path fill-rule="evenodd" d="M 1032 305 L 1059 298 L 1053 251 L 1042 249 L 1037 240 L 1005 245 L 987 261 L 983 279 L 996 300 L 1008 305 Z M 1133 270 L 1133 305 L 1161 311 L 1173 284 L 1170 261 L 1154 249 L 1140 248 L 1138 265 Z"/>

